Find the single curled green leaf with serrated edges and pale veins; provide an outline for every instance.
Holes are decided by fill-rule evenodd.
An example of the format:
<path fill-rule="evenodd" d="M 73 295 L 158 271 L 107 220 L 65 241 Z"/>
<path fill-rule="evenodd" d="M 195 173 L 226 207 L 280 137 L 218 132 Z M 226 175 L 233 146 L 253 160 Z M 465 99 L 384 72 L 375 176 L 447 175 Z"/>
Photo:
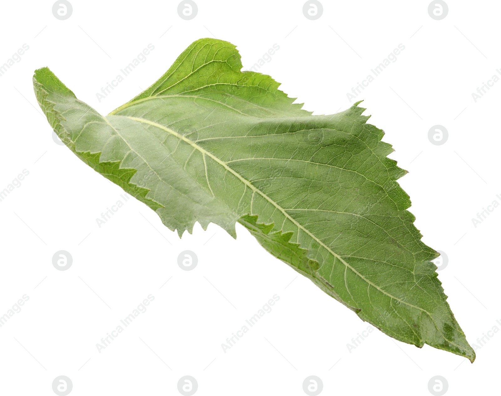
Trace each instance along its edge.
<path fill-rule="evenodd" d="M 473 361 L 383 131 L 358 103 L 313 116 L 241 67 L 232 44 L 198 40 L 106 117 L 48 68 L 33 81 L 61 140 L 179 236 L 212 222 L 236 237 L 239 222 L 362 320 Z"/>

